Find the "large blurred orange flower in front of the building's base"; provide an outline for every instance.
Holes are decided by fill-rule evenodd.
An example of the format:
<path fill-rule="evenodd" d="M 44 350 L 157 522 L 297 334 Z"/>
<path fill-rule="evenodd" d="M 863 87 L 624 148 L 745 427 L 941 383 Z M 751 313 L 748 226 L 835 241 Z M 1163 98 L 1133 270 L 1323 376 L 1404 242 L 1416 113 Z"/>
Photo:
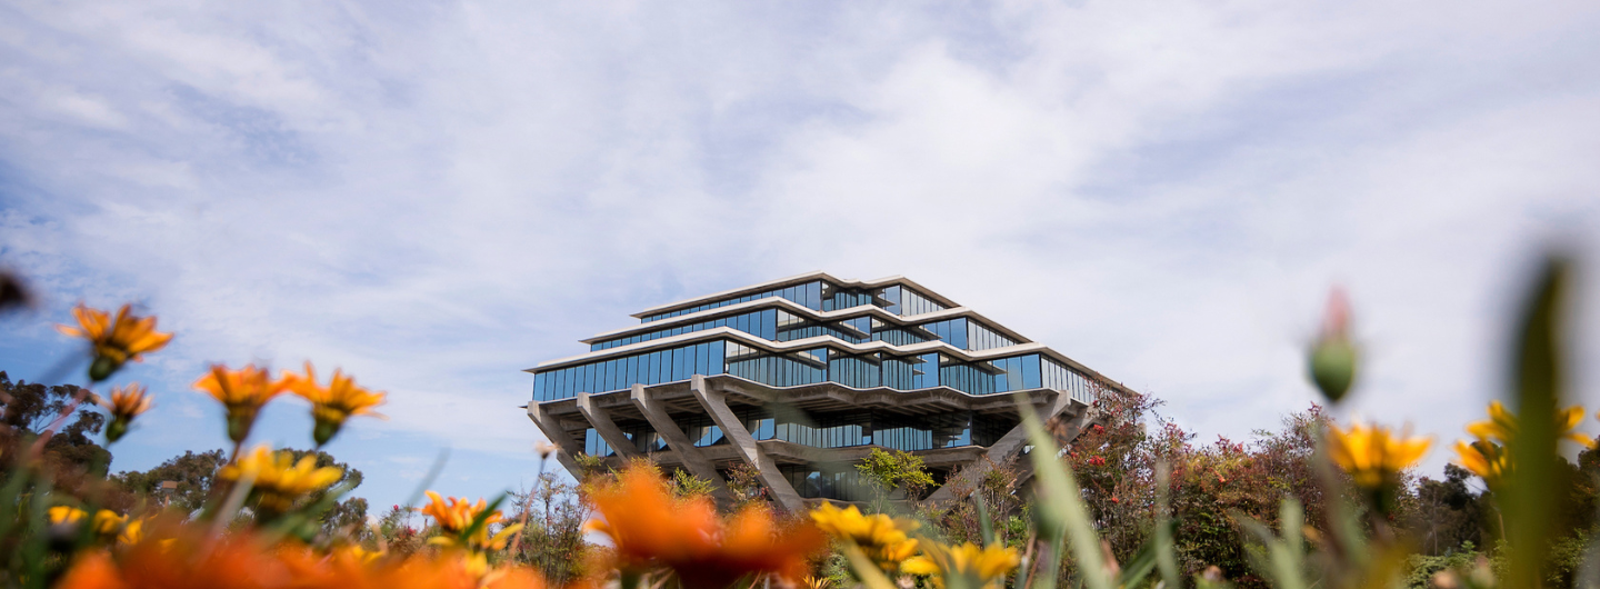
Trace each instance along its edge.
<path fill-rule="evenodd" d="M 760 506 L 722 522 L 709 499 L 674 499 L 666 480 L 650 469 L 624 471 L 590 498 L 603 520 L 586 528 L 611 538 L 619 568 L 664 565 L 690 589 L 722 589 L 760 573 L 797 581 L 810 571 L 808 557 L 827 541 L 811 525 L 779 530 Z"/>

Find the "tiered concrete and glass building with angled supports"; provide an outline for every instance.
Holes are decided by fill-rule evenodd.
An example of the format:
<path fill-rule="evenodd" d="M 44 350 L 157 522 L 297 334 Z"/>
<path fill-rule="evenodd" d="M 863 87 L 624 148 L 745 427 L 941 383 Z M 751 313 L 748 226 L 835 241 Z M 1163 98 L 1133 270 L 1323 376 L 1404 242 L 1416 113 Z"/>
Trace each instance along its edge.
<path fill-rule="evenodd" d="M 528 416 L 574 475 L 574 453 L 650 456 L 726 499 L 726 472 L 754 464 L 779 506 L 802 509 L 861 498 L 853 463 L 872 448 L 922 456 L 941 483 L 1016 456 L 1016 394 L 1075 435 L 1102 391 L 1122 391 L 904 277 L 813 272 L 634 317 L 528 370 Z"/>

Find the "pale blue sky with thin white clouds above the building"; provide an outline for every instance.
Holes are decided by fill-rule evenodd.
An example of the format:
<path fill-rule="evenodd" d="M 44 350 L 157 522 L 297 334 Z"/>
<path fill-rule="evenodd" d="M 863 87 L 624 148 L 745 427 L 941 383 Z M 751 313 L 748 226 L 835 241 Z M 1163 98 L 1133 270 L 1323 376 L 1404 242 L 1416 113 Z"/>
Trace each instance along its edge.
<path fill-rule="evenodd" d="M 523 370 L 698 294 L 906 275 L 1205 442 L 1318 400 L 1338 285 L 1336 416 L 1435 435 L 1437 475 L 1552 248 L 1600 405 L 1597 29 L 1576 0 L 0 2 L 0 264 L 43 298 L 0 370 L 82 352 L 75 303 L 157 314 L 128 471 L 224 447 L 213 362 L 339 367 L 389 394 L 328 447 L 387 507 L 443 451 L 442 493 L 528 485 Z M 307 413 L 254 439 L 307 447 Z"/>

